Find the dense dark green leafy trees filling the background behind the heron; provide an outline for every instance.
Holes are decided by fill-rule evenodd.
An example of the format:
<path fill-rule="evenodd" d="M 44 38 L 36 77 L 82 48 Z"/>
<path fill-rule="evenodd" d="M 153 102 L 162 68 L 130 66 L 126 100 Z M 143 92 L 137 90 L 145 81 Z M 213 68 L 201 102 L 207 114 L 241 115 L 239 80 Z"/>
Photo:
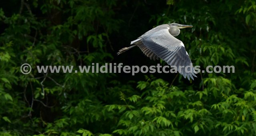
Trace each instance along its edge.
<path fill-rule="evenodd" d="M 38 73 L 38 65 L 166 65 L 139 48 L 160 24 L 182 29 L 194 65 L 234 66 L 194 81 L 164 73 Z M 0 2 L 0 135 L 256 135 L 255 0 Z M 22 74 L 20 66 L 32 66 Z"/>

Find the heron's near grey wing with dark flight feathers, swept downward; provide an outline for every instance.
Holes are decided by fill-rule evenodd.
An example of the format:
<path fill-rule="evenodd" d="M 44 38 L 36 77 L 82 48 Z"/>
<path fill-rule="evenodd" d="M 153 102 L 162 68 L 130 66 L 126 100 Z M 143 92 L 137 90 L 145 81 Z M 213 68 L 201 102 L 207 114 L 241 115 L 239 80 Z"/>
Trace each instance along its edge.
<path fill-rule="evenodd" d="M 193 76 L 196 77 L 194 67 L 192 66 L 192 70 L 188 67 L 188 71 L 185 71 L 186 66 L 192 65 L 192 62 L 188 56 L 188 52 L 185 50 L 184 44 L 172 36 L 167 27 L 161 28 L 152 34 L 147 34 L 147 36 L 142 36 L 142 42 L 167 64 L 176 66 L 184 78 L 187 77 L 188 79 L 192 78 L 194 80 Z M 182 66 L 182 68 L 179 68 L 179 66 Z"/>

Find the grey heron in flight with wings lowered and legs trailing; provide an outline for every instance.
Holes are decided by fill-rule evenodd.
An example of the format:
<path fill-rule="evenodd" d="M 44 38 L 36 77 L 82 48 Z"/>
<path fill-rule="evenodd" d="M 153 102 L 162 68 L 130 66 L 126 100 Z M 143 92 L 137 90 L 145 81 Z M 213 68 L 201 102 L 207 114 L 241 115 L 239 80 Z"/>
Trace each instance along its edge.
<path fill-rule="evenodd" d="M 190 78 L 194 80 L 194 77 L 197 76 L 188 56 L 188 52 L 186 52 L 182 41 L 174 37 L 180 34 L 181 28 L 188 27 L 193 26 L 177 23 L 162 24 L 132 41 L 132 46 L 122 48 L 117 54 L 119 55 L 134 46 L 138 46 L 151 60 L 159 60 L 159 58 L 161 58 L 170 66 L 176 66 L 177 71 L 180 72 L 184 78 L 187 77 L 188 80 L 190 80 Z M 188 66 L 188 68 L 185 70 L 186 66 Z M 192 70 L 190 66 L 192 66 Z"/>

